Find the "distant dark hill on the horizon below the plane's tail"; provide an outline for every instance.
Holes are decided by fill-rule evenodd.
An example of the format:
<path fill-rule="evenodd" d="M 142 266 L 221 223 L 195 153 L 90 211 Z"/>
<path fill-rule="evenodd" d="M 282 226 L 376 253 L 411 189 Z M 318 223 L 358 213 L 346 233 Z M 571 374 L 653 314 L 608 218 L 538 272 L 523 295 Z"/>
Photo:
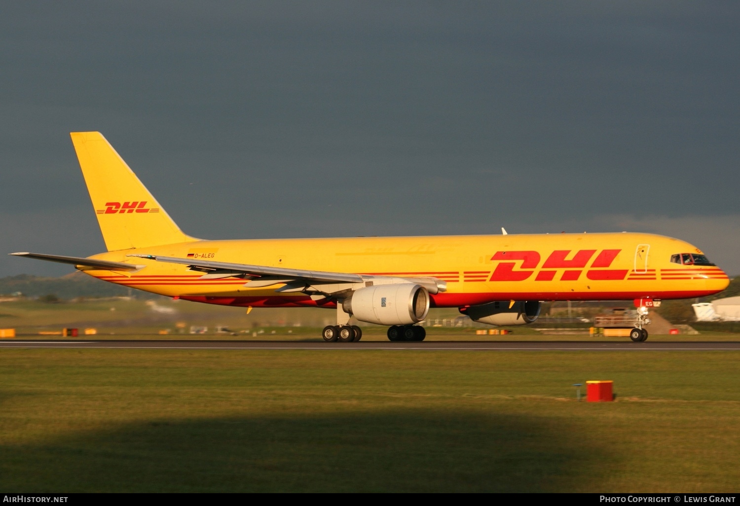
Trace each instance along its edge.
<path fill-rule="evenodd" d="M 137 297 L 158 297 L 144 291 L 130 290 Z M 26 297 L 36 298 L 55 295 L 59 299 L 76 297 L 116 297 L 129 295 L 129 289 L 96 280 L 93 277 L 75 271 L 62 277 L 41 277 L 30 274 L 19 274 L 0 278 L 0 294 L 10 295 L 21 292 Z"/>

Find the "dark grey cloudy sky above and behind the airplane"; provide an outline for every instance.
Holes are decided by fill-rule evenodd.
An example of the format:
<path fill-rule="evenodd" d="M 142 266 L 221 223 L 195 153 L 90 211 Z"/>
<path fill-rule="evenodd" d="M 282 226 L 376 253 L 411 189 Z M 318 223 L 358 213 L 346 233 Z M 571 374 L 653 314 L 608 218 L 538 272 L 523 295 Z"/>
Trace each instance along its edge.
<path fill-rule="evenodd" d="M 740 274 L 740 4 L 0 4 L 0 252 L 104 250 L 69 132 L 203 238 L 647 231 Z M 0 255 L 0 276 L 66 266 Z"/>

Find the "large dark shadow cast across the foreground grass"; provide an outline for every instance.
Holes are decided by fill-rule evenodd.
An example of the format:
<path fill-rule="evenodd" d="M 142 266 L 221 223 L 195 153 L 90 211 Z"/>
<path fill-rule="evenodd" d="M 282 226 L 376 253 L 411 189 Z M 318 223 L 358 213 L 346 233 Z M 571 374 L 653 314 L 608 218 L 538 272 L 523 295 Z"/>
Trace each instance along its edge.
<path fill-rule="evenodd" d="M 0 488 L 70 492 L 581 490 L 612 459 L 564 422 L 406 410 L 171 419 L 1 445 Z"/>

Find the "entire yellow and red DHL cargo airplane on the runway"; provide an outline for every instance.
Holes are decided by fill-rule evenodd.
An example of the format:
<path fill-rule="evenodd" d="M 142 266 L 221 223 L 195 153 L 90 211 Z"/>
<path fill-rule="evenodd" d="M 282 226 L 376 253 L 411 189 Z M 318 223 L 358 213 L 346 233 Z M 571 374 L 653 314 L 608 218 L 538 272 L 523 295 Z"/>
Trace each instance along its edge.
<path fill-rule="evenodd" d="M 336 311 L 327 342 L 360 340 L 351 317 L 420 341 L 429 308 L 525 325 L 542 301 L 634 300 L 630 339 L 647 339 L 660 300 L 704 297 L 730 280 L 704 253 L 643 233 L 201 240 L 184 234 L 99 132 L 72 132 L 107 252 L 19 257 L 67 263 L 100 280 L 223 306 Z"/>

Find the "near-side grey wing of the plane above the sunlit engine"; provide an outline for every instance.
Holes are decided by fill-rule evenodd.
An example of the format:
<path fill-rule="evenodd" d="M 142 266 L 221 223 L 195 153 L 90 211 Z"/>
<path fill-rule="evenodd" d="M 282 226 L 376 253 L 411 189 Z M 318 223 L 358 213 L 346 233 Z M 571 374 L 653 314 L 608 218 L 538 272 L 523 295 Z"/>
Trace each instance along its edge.
<path fill-rule="evenodd" d="M 400 278 L 388 276 L 373 276 L 369 274 L 354 274 L 349 272 L 307 271 L 303 269 L 285 269 L 283 267 L 253 266 L 244 263 L 211 262 L 208 260 L 194 260 L 192 258 L 161 257 L 153 254 L 129 254 L 129 257 L 146 258 L 157 262 L 180 263 L 189 266 L 195 271 L 204 272 L 201 279 L 218 279 L 223 277 L 242 277 L 250 280 L 244 284 L 246 288 L 263 288 L 277 284 L 285 284 L 280 291 L 306 291 L 309 286 L 323 286 L 318 291 L 341 291 L 349 289 L 346 283 L 366 283 L 370 280 L 413 280 L 425 286 L 432 294 L 445 291 L 446 284 L 437 278 Z M 343 286 L 342 286 L 343 285 Z"/>

